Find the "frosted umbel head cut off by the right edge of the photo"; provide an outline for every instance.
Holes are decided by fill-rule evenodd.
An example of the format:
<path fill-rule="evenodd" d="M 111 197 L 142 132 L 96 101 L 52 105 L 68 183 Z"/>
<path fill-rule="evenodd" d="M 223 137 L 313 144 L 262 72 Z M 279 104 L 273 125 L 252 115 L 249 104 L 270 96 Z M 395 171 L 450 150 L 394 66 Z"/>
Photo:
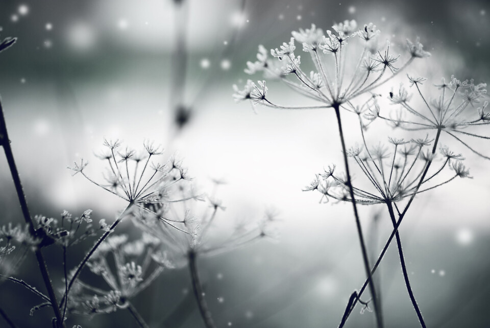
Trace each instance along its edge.
<path fill-rule="evenodd" d="M 476 130 L 490 124 L 490 112 L 486 96 L 486 84 L 475 84 L 473 80 L 458 80 L 451 76 L 451 82 L 442 79 L 440 84 L 435 84 L 438 96 L 430 99 L 424 96 L 423 82 L 425 78 L 408 76 L 410 87 L 415 89 L 417 97 L 410 97 L 407 89 L 400 86 L 398 91 L 391 91 L 389 100 L 394 105 L 399 105 L 400 111 L 394 115 L 377 115 L 377 118 L 385 120 L 395 127 L 405 130 L 434 130 L 444 132 L 458 140 L 463 146 L 481 157 L 490 159 L 488 155 L 474 149 L 465 139 L 482 138 L 489 136 L 478 133 Z M 413 104 L 419 100 L 418 104 Z M 373 119 L 371 113 L 366 117 Z"/>

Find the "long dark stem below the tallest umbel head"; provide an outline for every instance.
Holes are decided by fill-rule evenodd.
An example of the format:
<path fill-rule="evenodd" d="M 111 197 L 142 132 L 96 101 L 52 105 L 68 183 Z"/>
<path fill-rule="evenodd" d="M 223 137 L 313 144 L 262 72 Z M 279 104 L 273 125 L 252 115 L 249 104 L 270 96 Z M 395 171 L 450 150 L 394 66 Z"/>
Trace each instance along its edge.
<path fill-rule="evenodd" d="M 339 105 L 338 104 L 334 104 L 333 105 L 333 108 L 335 109 L 335 114 L 337 116 L 338 132 L 339 132 L 339 135 L 340 135 L 340 142 L 342 144 L 342 152 L 344 153 L 344 163 L 345 163 L 345 167 L 346 167 L 347 184 L 349 185 L 349 194 L 350 194 L 350 197 L 352 199 L 352 207 L 354 209 L 354 216 L 355 216 L 355 219 L 356 219 L 357 234 L 358 234 L 358 237 L 359 237 L 359 243 L 361 245 L 362 260 L 364 262 L 364 269 L 365 269 L 366 276 L 367 276 L 367 282 L 369 284 L 369 288 L 370 288 L 370 291 L 371 291 L 371 296 L 373 297 L 373 304 L 374 304 L 374 312 L 376 314 L 376 321 L 378 323 L 378 327 L 383 327 L 383 318 L 381 317 L 381 312 L 379 311 L 378 297 L 377 297 L 377 294 L 376 294 L 376 288 L 375 288 L 375 286 L 373 284 L 373 277 L 371 275 L 371 266 L 369 264 L 369 259 L 367 257 L 366 245 L 365 245 L 365 242 L 364 242 L 364 236 L 362 235 L 361 222 L 359 220 L 359 214 L 357 213 L 357 205 L 356 205 L 356 200 L 354 198 L 354 190 L 352 188 L 352 183 L 351 183 L 351 175 L 350 175 L 350 172 L 349 172 L 349 163 L 348 163 L 348 160 L 347 160 L 346 143 L 345 143 L 345 140 L 344 140 L 344 132 L 342 131 L 342 121 L 340 120 Z"/>

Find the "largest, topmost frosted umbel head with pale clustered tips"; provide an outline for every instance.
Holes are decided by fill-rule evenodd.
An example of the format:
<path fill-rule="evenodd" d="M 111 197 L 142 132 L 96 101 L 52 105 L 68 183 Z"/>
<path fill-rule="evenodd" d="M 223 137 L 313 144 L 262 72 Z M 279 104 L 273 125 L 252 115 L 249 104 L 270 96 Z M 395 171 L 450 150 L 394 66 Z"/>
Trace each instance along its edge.
<path fill-rule="evenodd" d="M 247 62 L 247 74 L 263 73 L 265 78 L 276 78 L 306 98 L 321 102 L 318 106 L 290 107 L 278 105 L 267 96 L 265 81 L 256 85 L 247 81 L 244 89 L 233 86 L 235 101 L 250 100 L 254 105 L 280 109 L 328 108 L 346 104 L 349 100 L 371 91 L 397 75 L 416 58 L 430 56 L 417 39 L 407 40 L 408 58 L 398 63 L 400 55 L 393 55 L 389 42 L 377 49 L 379 30 L 372 23 L 357 27 L 354 20 L 340 22 L 326 33 L 314 24 L 310 29 L 292 32 L 289 42 L 269 53 L 263 45 L 255 62 Z M 310 55 L 315 71 L 301 68 L 303 58 L 297 56 L 296 42 Z"/>

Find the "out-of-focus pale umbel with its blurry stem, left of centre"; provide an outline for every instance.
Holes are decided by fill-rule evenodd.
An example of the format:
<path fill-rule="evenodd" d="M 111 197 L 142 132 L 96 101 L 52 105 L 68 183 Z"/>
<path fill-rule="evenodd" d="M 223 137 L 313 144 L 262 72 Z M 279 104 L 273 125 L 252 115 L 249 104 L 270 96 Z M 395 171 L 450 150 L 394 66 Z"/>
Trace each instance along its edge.
<path fill-rule="evenodd" d="M 134 211 L 132 215 L 133 223 L 137 227 L 161 242 L 160 249 L 152 255 L 154 261 L 164 267 L 189 267 L 192 289 L 201 317 L 205 326 L 211 328 L 216 325 L 204 297 L 197 258 L 228 252 L 260 239 L 274 238 L 272 225 L 276 221 L 276 213 L 269 211 L 260 220 L 240 221 L 229 236 L 224 238 L 223 233 L 220 233 L 220 238 L 216 241 L 216 238 L 211 238 L 209 233 L 215 229 L 218 212 L 224 211 L 226 207 L 214 196 L 207 197 L 206 203 L 209 206 L 200 216 L 193 215 L 188 207 L 185 207 L 183 213 L 179 215 L 182 210 L 179 212 L 175 204 L 153 204 L 155 213 L 140 209 Z M 159 218 L 169 214 L 174 215 L 174 222 L 184 224 L 192 233 L 176 235 L 168 226 L 162 224 Z"/>

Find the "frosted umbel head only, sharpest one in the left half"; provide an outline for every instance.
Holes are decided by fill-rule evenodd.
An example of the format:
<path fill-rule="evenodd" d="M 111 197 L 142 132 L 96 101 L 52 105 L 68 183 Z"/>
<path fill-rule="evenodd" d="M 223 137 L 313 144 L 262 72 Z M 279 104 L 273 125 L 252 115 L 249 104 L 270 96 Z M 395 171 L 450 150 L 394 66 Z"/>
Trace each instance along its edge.
<path fill-rule="evenodd" d="M 104 140 L 105 150 L 96 156 L 107 163 L 103 173 L 105 182 L 96 182 L 86 173 L 87 162 L 83 159 L 73 167 L 68 167 L 75 174 L 81 174 L 87 180 L 107 192 L 118 196 L 141 210 L 153 215 L 158 214 L 152 204 L 167 204 L 187 200 L 201 200 L 190 184 L 191 178 L 182 161 L 175 156 L 166 162 L 157 161 L 163 148 L 150 142 L 143 143 L 143 150 L 136 152 L 128 147 L 121 147 L 119 140 Z M 178 191 L 178 195 L 175 195 Z M 174 196 L 175 195 L 175 196 Z M 160 217 L 166 224 L 175 226 L 170 219 Z"/>

